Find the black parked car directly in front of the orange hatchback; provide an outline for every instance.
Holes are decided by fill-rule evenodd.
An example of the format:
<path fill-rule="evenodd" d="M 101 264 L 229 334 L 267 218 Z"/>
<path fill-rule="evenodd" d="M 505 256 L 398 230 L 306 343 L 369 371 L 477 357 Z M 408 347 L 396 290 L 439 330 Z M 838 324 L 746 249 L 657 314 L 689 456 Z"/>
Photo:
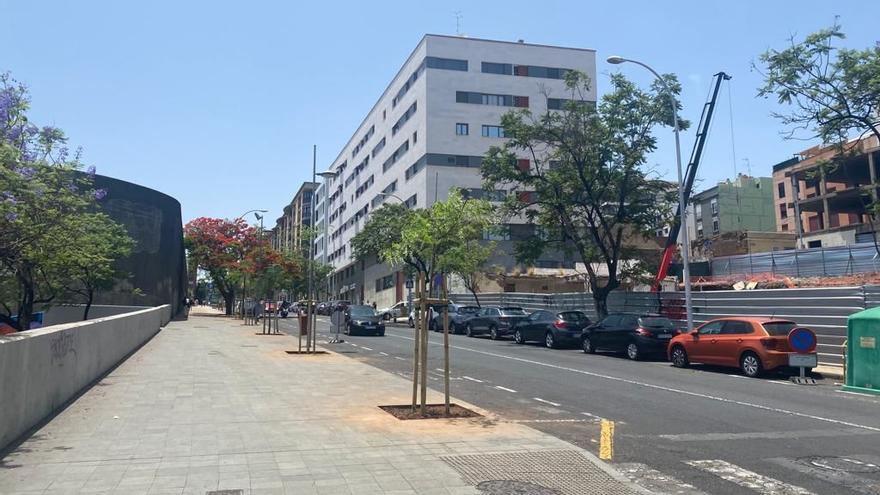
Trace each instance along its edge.
<path fill-rule="evenodd" d="M 587 327 L 581 336 L 584 352 L 623 352 L 636 360 L 648 354 L 666 354 L 669 340 L 679 334 L 669 318 L 658 315 L 618 313 Z"/>

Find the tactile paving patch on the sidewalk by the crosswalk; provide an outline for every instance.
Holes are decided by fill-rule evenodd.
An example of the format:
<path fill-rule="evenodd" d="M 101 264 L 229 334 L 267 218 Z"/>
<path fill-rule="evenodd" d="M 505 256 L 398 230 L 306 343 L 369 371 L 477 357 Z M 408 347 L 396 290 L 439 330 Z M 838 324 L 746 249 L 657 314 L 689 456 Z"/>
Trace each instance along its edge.
<path fill-rule="evenodd" d="M 613 478 L 589 459 L 573 450 L 471 454 L 445 456 L 442 459 L 458 471 L 466 482 L 476 485 L 477 488 L 480 488 L 481 483 L 486 482 L 525 482 L 543 490 L 550 490 L 543 492 L 489 491 L 488 493 L 535 493 L 542 495 L 630 495 L 635 493 L 627 485 Z"/>

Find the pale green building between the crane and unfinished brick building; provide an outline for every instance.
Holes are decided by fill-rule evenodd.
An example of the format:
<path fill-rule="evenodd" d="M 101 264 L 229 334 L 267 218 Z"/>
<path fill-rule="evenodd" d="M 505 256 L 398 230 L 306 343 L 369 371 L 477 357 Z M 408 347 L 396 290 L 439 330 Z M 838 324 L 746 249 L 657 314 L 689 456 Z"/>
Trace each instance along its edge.
<path fill-rule="evenodd" d="M 773 234 L 776 217 L 770 177 L 740 174 L 694 194 L 687 228 L 697 258 L 794 247 L 789 236 Z"/>

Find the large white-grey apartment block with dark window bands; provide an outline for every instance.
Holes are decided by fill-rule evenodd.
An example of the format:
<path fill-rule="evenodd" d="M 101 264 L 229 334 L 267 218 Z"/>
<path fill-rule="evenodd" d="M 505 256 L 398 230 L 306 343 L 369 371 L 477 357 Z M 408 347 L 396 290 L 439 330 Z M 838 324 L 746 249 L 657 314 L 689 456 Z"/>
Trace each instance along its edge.
<path fill-rule="evenodd" d="M 379 306 L 403 300 L 401 273 L 380 263 L 356 262 L 351 252 L 351 238 L 370 212 L 385 201 L 397 201 L 379 193 L 393 194 L 411 208 L 444 200 L 453 187 L 479 196 L 482 156 L 503 143 L 501 116 L 515 108 L 535 115 L 560 108 L 570 98 L 563 80 L 567 70 L 595 81 L 595 51 L 456 36 L 422 38 L 328 167 L 338 175 L 316 191 L 317 225 L 329 232 L 316 240 L 316 259 L 324 259 L 326 246 L 336 274 L 334 295 Z M 596 101 L 595 84 L 588 100 Z M 528 160 L 520 164 L 527 166 Z M 495 239 L 499 248 L 531 235 L 528 227 L 511 225 L 509 235 Z M 502 264 L 512 265 L 507 258 Z M 558 262 L 548 261 L 544 268 Z"/>

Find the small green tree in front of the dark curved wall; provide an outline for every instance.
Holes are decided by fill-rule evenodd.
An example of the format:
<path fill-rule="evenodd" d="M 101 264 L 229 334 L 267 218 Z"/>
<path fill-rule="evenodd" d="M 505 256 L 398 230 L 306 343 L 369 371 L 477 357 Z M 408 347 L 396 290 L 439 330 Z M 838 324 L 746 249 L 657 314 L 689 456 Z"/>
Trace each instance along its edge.
<path fill-rule="evenodd" d="M 95 295 L 112 289 L 116 282 L 128 277 L 128 273 L 116 267 L 116 260 L 131 253 L 134 240 L 125 227 L 103 213 L 81 215 L 72 220 L 76 235 L 72 240 L 76 248 L 56 263 L 60 265 L 62 286 L 67 293 L 81 298 L 85 305 L 83 320 L 87 320 Z"/>

